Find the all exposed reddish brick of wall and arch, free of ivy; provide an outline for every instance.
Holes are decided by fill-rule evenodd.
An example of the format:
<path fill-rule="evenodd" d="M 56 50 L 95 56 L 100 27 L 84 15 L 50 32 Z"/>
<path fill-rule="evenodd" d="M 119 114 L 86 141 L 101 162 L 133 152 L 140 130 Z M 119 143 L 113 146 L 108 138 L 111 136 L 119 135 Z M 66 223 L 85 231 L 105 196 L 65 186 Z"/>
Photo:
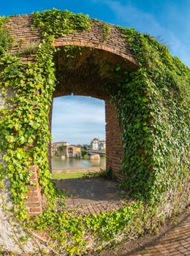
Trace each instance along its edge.
<path fill-rule="evenodd" d="M 32 15 L 14 15 L 9 18 L 4 25 L 9 30 L 9 34 L 15 38 L 15 47 L 12 52 L 18 52 L 23 45 L 30 42 L 41 42 L 37 29 L 31 29 Z M 81 45 L 86 48 L 94 48 L 96 54 L 89 53 L 86 50 L 86 59 L 83 59 L 82 64 L 80 59 L 76 59 L 73 67 L 74 70 L 68 69 L 67 75 L 63 75 L 61 70 L 65 70 L 63 64 L 65 61 L 60 61 L 60 56 L 56 58 L 58 68 L 57 78 L 58 86 L 53 97 L 69 95 L 74 92 L 77 95 L 91 96 L 106 101 L 106 143 L 107 143 L 107 167 L 112 167 L 113 173 L 118 179 L 121 179 L 121 174 L 118 173 L 118 168 L 121 165 L 121 157 L 123 154 L 122 143 L 120 138 L 120 127 L 118 118 L 113 105 L 110 103 L 110 98 L 104 89 L 105 80 L 109 78 L 109 70 L 107 74 L 102 74 L 101 63 L 110 61 L 110 65 L 115 67 L 115 64 L 124 65 L 129 69 L 137 69 L 137 62 L 131 50 L 129 50 L 125 39 L 121 36 L 121 31 L 113 26 L 110 26 L 110 34 L 107 42 L 104 42 L 102 22 L 91 20 L 91 29 L 88 31 L 80 31 L 59 37 L 56 39 L 56 47 L 64 45 Z M 89 55 L 91 54 L 91 56 Z M 94 55 L 93 55 L 94 54 Z M 34 56 L 23 56 L 22 61 L 34 61 Z M 80 65 L 78 65 L 80 63 Z M 61 66 L 62 64 L 62 66 Z M 127 65 L 126 65 L 127 64 Z M 74 71 L 73 71 L 74 70 Z M 69 74 L 69 75 L 68 75 Z M 89 86 L 89 84 L 91 86 Z M 67 87 L 66 87 L 67 85 Z M 50 129 L 51 129 L 52 110 L 50 110 Z M 50 146 L 49 146 L 50 151 Z M 49 154 L 50 160 L 50 154 Z M 50 161 L 51 162 L 51 161 Z M 28 200 L 26 206 L 28 213 L 31 216 L 42 212 L 42 195 L 37 179 L 37 168 L 31 166 L 32 171 L 31 181 L 37 186 L 28 187 Z"/>

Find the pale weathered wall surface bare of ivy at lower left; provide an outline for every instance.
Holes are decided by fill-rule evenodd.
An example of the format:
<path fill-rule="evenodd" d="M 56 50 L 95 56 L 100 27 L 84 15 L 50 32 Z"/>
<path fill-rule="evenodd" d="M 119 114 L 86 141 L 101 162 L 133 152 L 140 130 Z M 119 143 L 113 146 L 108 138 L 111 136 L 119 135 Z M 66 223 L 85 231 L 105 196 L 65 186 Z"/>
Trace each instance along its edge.
<path fill-rule="evenodd" d="M 4 99 L 0 91 L 0 109 L 4 108 Z M 0 152 L 0 164 L 6 167 L 6 163 L 3 161 L 2 157 L 3 152 Z M 36 242 L 34 239 L 32 240 L 28 237 L 25 230 L 20 227 L 18 222 L 15 222 L 14 216 L 9 212 L 9 210 L 11 210 L 13 207 L 12 200 L 10 198 L 11 192 L 9 189 L 9 178 L 4 178 L 4 184 L 2 184 L 2 186 L 3 187 L 0 188 L 0 254 L 1 250 L 4 252 L 15 252 L 20 255 L 26 255 L 26 252 L 34 253 L 36 249 L 39 250 Z M 32 197 L 31 200 L 34 199 L 35 198 Z M 42 209 L 40 209 L 40 211 L 42 211 Z M 22 237 L 28 238 L 28 241 L 22 244 L 20 240 Z M 38 244 L 40 244 L 39 241 Z M 40 246 L 44 247 L 42 244 Z"/>

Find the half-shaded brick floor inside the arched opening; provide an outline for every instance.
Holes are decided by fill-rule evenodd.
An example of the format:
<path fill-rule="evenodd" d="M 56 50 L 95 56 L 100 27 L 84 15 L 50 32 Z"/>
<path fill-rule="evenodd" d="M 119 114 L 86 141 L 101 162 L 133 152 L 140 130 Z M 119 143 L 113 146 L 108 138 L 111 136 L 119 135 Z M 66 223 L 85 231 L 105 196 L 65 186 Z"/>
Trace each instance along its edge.
<path fill-rule="evenodd" d="M 78 213 L 98 214 L 121 206 L 122 193 L 118 183 L 104 178 L 72 178 L 60 180 L 58 189 L 65 189 L 72 197 L 66 198 L 66 208 Z"/>

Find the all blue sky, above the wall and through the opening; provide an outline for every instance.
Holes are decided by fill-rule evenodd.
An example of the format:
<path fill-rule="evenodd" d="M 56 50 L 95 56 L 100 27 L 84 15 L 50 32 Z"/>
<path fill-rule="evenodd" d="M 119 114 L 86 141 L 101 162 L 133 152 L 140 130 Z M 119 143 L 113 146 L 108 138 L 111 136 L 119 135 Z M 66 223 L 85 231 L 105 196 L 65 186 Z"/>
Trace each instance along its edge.
<path fill-rule="evenodd" d="M 178 56 L 190 66 L 190 0 L 9 0 L 1 1 L 0 15 L 30 13 L 53 7 L 83 12 L 91 18 L 159 36 L 167 43 L 172 55 Z M 68 109 L 71 110 L 70 116 L 75 118 L 69 118 L 65 111 L 69 102 L 72 105 Z M 80 108 L 80 113 L 76 115 L 77 108 Z M 94 118 L 91 118 L 89 110 L 93 111 Z M 54 100 L 54 141 L 89 143 L 94 136 L 104 139 L 102 101 L 89 97 L 63 97 Z"/>

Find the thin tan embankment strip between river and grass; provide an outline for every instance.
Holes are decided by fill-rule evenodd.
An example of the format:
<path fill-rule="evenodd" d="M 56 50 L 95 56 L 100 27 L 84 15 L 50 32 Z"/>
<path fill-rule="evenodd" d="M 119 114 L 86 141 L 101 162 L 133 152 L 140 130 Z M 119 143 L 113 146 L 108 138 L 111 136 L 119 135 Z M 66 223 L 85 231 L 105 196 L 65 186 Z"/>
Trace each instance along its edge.
<path fill-rule="evenodd" d="M 94 173 L 105 170 L 105 166 L 53 168 L 52 173 Z"/>

